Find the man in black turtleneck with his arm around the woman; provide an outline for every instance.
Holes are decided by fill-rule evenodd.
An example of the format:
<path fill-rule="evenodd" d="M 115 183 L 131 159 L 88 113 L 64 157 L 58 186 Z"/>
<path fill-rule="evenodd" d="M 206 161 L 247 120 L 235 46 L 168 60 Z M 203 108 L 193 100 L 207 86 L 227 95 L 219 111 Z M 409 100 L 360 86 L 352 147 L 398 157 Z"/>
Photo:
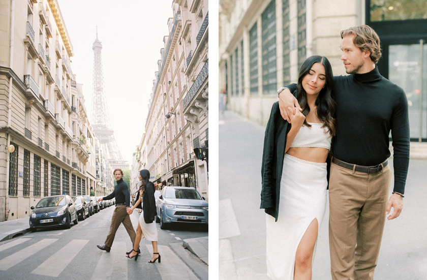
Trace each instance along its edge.
<path fill-rule="evenodd" d="M 380 39 L 367 26 L 341 32 L 348 76 L 334 77 L 337 133 L 329 177 L 329 248 L 332 279 L 373 279 L 387 219 L 398 217 L 409 165 L 409 117 L 405 92 L 378 72 Z M 299 107 L 295 84 L 279 89 L 279 107 Z M 289 89 L 290 91 L 289 91 Z M 283 92 L 281 95 L 280 93 Z M 394 189 L 388 199 L 393 145 Z M 387 202 L 388 199 L 388 202 Z"/>

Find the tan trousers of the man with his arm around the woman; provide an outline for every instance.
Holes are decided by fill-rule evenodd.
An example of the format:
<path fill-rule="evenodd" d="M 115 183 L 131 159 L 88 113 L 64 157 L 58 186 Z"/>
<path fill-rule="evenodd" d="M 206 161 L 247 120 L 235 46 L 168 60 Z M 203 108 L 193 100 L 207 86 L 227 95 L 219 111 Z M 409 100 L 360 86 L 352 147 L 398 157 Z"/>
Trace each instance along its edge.
<path fill-rule="evenodd" d="M 389 166 L 367 174 L 331 164 L 329 249 L 333 280 L 374 278 L 390 181 Z"/>

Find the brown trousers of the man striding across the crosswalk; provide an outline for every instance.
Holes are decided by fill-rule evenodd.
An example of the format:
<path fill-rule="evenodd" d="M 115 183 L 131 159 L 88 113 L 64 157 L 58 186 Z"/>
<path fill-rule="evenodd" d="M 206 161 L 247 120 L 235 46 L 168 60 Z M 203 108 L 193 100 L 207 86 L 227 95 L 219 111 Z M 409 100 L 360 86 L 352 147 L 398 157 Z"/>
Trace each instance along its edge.
<path fill-rule="evenodd" d="M 107 239 L 105 239 L 104 244 L 108 247 L 113 245 L 114 236 L 118 229 L 118 226 L 123 224 L 126 231 L 131 237 L 132 247 L 135 244 L 136 233 L 132 226 L 131 218 L 129 217 L 128 212 L 126 211 L 126 205 L 118 205 L 115 207 L 113 216 L 111 217 L 110 231 L 108 232 Z"/>

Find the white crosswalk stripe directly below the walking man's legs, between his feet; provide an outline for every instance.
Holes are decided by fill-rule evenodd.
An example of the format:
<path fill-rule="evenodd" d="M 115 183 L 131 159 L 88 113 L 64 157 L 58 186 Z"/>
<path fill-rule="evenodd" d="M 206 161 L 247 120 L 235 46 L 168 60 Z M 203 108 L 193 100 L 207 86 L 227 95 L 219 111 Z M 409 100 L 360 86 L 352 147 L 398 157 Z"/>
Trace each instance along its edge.
<path fill-rule="evenodd" d="M 101 258 L 92 275 L 92 280 L 128 278 L 128 259 L 125 257 L 126 242 L 114 242 L 110 253 L 101 251 L 99 253 Z"/>

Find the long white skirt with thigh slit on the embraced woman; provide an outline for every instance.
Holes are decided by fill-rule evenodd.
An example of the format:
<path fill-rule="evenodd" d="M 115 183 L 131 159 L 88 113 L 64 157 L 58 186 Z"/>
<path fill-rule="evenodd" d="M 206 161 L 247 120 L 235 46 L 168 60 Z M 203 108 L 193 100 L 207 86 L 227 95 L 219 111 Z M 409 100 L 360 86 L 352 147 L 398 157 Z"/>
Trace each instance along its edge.
<path fill-rule="evenodd" d="M 271 279 L 293 280 L 295 253 L 302 236 L 314 219 L 320 229 L 326 188 L 326 163 L 303 161 L 285 154 L 278 221 L 268 214 L 266 217 L 267 275 Z"/>

